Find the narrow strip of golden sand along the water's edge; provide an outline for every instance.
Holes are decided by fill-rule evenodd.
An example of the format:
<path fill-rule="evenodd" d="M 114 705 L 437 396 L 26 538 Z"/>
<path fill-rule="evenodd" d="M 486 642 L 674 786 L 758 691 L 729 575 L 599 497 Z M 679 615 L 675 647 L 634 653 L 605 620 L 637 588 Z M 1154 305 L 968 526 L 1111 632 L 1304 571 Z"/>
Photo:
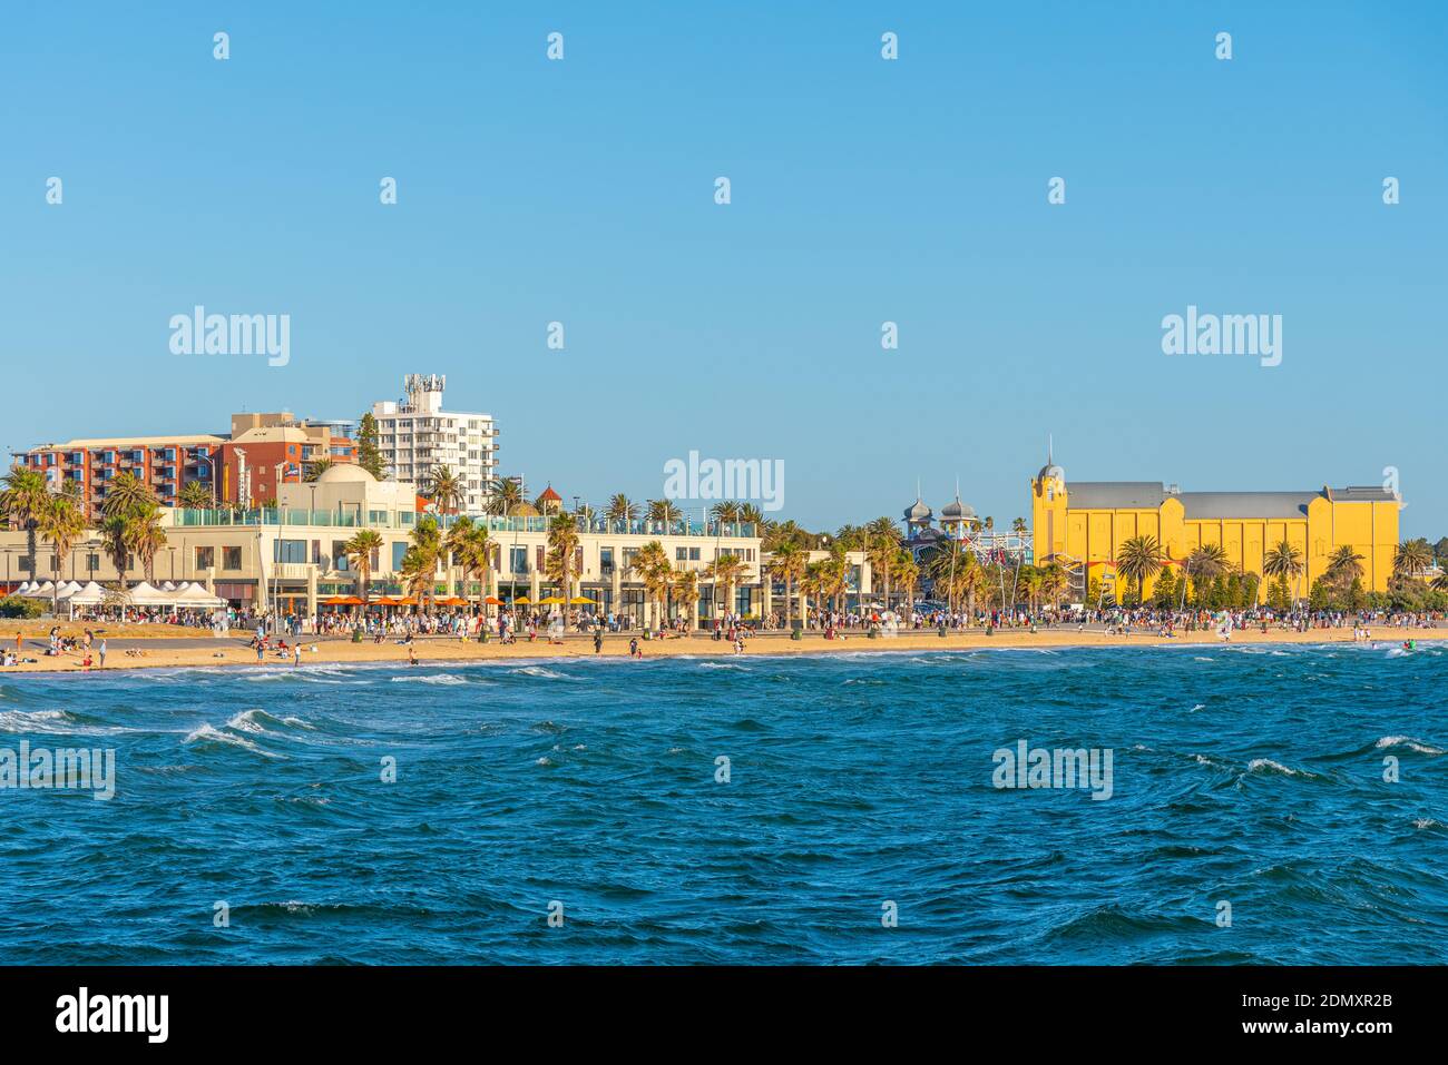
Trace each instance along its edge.
<path fill-rule="evenodd" d="M 1308 629 L 1306 632 L 1290 632 L 1268 629 L 1235 629 L 1231 640 L 1224 641 L 1212 629 L 1196 632 L 1179 632 L 1174 637 L 1148 635 L 1145 632 L 1124 637 L 1108 635 L 1099 629 L 1080 632 L 1074 628 L 1040 629 L 1006 629 L 995 635 L 986 635 L 983 629 L 967 629 L 964 632 L 950 632 L 944 638 L 933 629 L 909 631 L 896 637 L 867 638 L 863 632 L 841 635 L 835 640 L 825 640 L 822 634 L 808 635 L 801 641 L 789 640 L 786 635 L 762 635 L 746 642 L 744 654 L 736 655 L 727 641 L 714 641 L 707 635 L 669 638 L 669 640 L 640 640 L 644 658 L 759 658 L 782 655 L 828 655 L 828 654 L 895 654 L 895 653 L 941 653 L 941 651 L 980 651 L 980 650 L 1070 650 L 1070 648 L 1132 648 L 1132 647 L 1241 647 L 1241 645 L 1397 645 L 1407 640 L 1436 642 L 1448 640 L 1448 628 L 1392 628 L 1380 627 L 1368 631 L 1373 634 L 1367 641 L 1354 641 L 1351 628 Z M 594 653 L 591 638 L 571 635 L 562 644 L 539 641 L 536 644 L 500 644 L 489 641 L 479 644 L 475 640 L 458 641 L 442 637 L 429 637 L 413 644 L 417 653 L 418 666 L 468 666 L 481 661 L 507 660 L 566 660 L 566 658 L 627 658 L 628 641 L 631 635 L 610 634 L 604 637 L 604 648 Z M 138 640 L 138 642 L 145 642 Z M 316 647 L 316 651 L 304 650 L 301 666 L 407 666 L 407 647 L 388 640 L 384 644 L 371 641 L 353 644 L 346 640 L 310 641 L 306 637 L 300 641 L 303 648 Z M 39 658 L 35 663 L 0 669 L 0 679 L 7 676 L 58 676 L 58 674 L 93 674 L 111 673 L 117 670 L 153 670 L 153 669 L 265 669 L 290 670 L 291 654 L 285 658 L 269 653 L 262 661 L 256 661 L 256 653 L 233 640 L 217 640 L 211 642 L 206 638 L 195 647 L 153 647 L 140 648 L 140 654 L 126 654 L 125 650 L 111 650 L 104 669 L 94 666 L 85 669 L 80 655 L 64 655 L 59 661 L 43 654 L 33 654 Z M 30 654 L 29 648 L 26 651 Z"/>

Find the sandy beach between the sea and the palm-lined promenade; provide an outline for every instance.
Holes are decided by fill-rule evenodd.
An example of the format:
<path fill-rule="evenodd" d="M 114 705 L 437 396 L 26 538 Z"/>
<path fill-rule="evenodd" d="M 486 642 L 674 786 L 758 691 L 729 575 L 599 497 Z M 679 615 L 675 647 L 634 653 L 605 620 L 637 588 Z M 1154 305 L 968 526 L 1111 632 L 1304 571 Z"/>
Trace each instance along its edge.
<path fill-rule="evenodd" d="M 85 670 L 81 655 L 65 654 L 59 658 L 43 654 L 45 640 L 49 627 L 19 627 L 16 622 L 0 624 L 0 645 L 14 647 L 16 631 L 25 638 L 25 657 L 36 658 L 35 663 L 23 663 L 0 670 L 0 676 L 13 673 L 75 673 L 96 671 L 98 667 Z M 83 627 L 62 625 L 62 632 L 80 635 Z M 93 629 L 94 631 L 94 629 Z M 146 627 L 111 627 L 104 631 L 109 654 L 106 669 L 158 669 L 158 667 L 258 667 L 277 669 L 291 667 L 291 651 L 287 657 L 279 657 L 275 651 L 268 653 L 264 663 L 256 661 L 256 651 L 245 644 L 249 634 L 233 632 L 224 640 L 209 637 L 190 637 L 168 625 Z M 1406 640 L 1435 641 L 1448 640 L 1448 628 L 1407 629 L 1381 625 L 1371 628 L 1371 642 L 1403 642 Z M 633 634 L 610 634 L 604 637 L 604 647 L 599 654 L 627 655 L 628 641 Z M 98 640 L 98 635 L 97 635 Z M 867 638 L 862 632 L 843 634 L 835 640 L 825 640 L 821 634 L 807 635 L 804 640 L 789 640 L 782 632 L 762 634 L 746 644 L 744 655 L 757 654 L 841 654 L 862 651 L 961 651 L 976 648 L 1064 648 L 1064 647 L 1144 647 L 1144 645 L 1202 645 L 1221 644 L 1222 640 L 1215 631 L 1177 632 L 1174 637 L 1147 635 L 1134 632 L 1125 635 L 1108 635 L 1100 629 L 1087 628 L 1085 632 L 1074 627 L 1040 629 L 1009 629 L 986 635 L 985 629 L 967 629 L 964 632 L 950 632 L 946 637 L 937 635 L 933 629 L 911 631 L 896 637 Z M 1352 642 L 1351 628 L 1310 629 L 1308 632 L 1290 632 L 1270 628 L 1237 629 L 1231 635 L 1231 644 L 1338 644 Z M 405 664 L 408 650 L 398 644 L 395 638 L 388 638 L 382 644 L 371 640 L 353 644 L 345 638 L 308 638 L 303 637 L 303 666 L 343 663 L 394 663 Z M 640 640 L 643 655 L 654 658 L 659 655 L 701 655 L 701 657 L 730 657 L 733 648 L 725 641 L 714 641 L 705 635 Z M 316 650 L 311 650 L 316 648 Z M 466 663 L 491 658 L 586 658 L 592 657 L 592 637 L 569 635 L 562 644 L 550 644 L 543 637 L 537 642 L 520 640 L 515 644 L 504 645 L 497 640 L 479 644 L 476 640 L 459 641 L 445 637 L 424 637 L 413 644 L 420 664 Z"/>

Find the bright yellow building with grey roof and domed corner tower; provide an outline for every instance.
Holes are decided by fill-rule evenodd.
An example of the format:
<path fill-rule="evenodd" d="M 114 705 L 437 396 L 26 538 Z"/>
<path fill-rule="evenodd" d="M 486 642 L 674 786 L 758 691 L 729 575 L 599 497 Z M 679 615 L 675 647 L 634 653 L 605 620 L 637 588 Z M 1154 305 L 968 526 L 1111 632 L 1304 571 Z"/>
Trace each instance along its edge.
<path fill-rule="evenodd" d="M 1082 593 L 1092 577 L 1112 586 L 1121 546 L 1156 537 L 1166 559 L 1184 560 L 1203 544 L 1221 544 L 1242 573 L 1263 573 L 1263 556 L 1283 540 L 1302 556 L 1306 572 L 1295 595 L 1306 596 L 1326 573 L 1338 547 L 1363 556 L 1363 586 L 1387 590 L 1397 551 L 1400 499 L 1384 488 L 1321 488 L 1302 492 L 1183 492 L 1157 480 L 1067 482 L 1047 454 L 1031 480 L 1031 532 L 1035 564 L 1056 561 L 1072 572 Z M 1153 582 L 1147 582 L 1147 593 Z M 1268 582 L 1258 596 L 1266 599 Z"/>

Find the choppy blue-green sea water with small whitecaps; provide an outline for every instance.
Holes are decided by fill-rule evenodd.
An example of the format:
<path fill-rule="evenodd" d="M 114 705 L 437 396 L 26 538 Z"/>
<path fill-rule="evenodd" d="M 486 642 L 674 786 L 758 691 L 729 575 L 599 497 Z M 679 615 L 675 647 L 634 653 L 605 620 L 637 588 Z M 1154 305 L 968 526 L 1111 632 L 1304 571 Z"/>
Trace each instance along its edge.
<path fill-rule="evenodd" d="M 0 748 L 114 748 L 116 794 L 0 792 L 0 951 L 1441 964 L 1445 680 L 1387 644 L 6 676 Z M 1111 797 L 996 787 L 1022 739 L 1111 750 Z"/>

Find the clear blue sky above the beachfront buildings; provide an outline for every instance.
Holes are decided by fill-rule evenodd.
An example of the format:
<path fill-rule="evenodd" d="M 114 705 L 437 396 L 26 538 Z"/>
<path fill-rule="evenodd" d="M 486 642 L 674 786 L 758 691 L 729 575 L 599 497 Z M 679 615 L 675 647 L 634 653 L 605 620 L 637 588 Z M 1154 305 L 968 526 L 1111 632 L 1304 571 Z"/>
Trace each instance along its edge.
<path fill-rule="evenodd" d="M 436 372 L 595 502 L 698 450 L 782 459 L 811 527 L 957 476 L 1005 524 L 1054 433 L 1069 479 L 1394 466 L 1436 540 L 1448 9 L 1263 7 L 7 6 L 0 446 Z M 290 314 L 290 365 L 171 355 L 194 304 Z M 1187 304 L 1281 314 L 1281 365 L 1163 355 Z"/>

